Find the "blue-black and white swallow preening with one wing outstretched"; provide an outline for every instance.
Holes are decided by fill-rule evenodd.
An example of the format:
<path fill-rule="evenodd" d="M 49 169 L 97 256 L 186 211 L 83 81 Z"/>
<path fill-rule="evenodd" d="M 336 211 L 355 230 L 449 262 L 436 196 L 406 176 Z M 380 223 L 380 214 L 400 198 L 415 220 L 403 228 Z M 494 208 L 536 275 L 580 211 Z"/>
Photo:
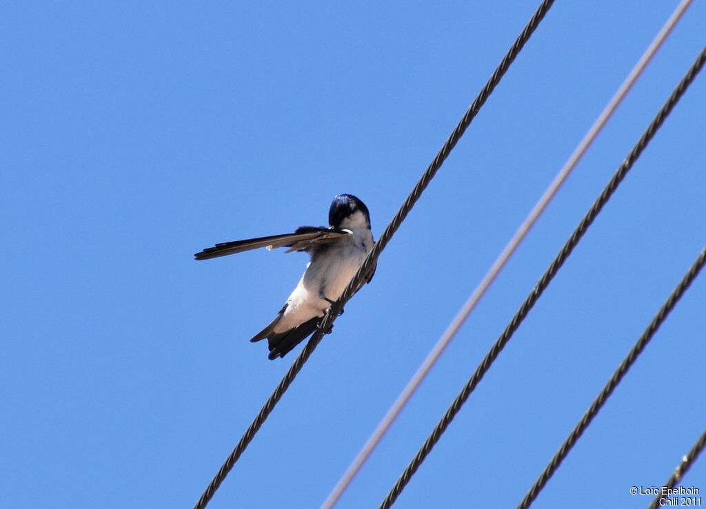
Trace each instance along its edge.
<path fill-rule="evenodd" d="M 284 307 L 250 340 L 255 343 L 267 339 L 270 360 L 284 357 L 316 330 L 373 249 L 370 213 L 359 198 L 336 195 L 328 211 L 328 225 L 300 226 L 294 233 L 216 244 L 194 255 L 196 260 L 205 260 L 259 247 L 289 247 L 286 252 L 309 253 L 306 271 Z M 373 264 L 356 292 L 370 283 L 375 269 Z"/>

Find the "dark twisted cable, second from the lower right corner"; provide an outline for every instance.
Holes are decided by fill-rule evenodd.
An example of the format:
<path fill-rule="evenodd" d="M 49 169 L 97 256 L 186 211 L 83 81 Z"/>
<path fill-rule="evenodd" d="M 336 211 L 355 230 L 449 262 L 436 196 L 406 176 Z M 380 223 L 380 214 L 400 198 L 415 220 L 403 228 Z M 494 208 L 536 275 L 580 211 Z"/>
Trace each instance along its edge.
<path fill-rule="evenodd" d="M 699 271 L 702 269 L 704 264 L 706 264 L 706 248 L 701 251 L 696 261 L 684 275 L 684 277 L 676 286 L 676 288 L 674 288 L 674 291 L 671 293 L 671 295 L 669 295 L 669 298 L 666 300 L 666 302 L 664 302 L 664 305 L 662 305 L 662 309 L 659 309 L 659 312 L 654 315 L 654 318 L 650 322 L 650 325 L 647 326 L 647 329 L 645 329 L 645 331 L 642 333 L 642 336 L 638 338 L 637 343 L 635 343 L 633 348 L 630 350 L 628 356 L 623 360 L 623 362 L 621 362 L 620 366 L 618 367 L 618 369 L 616 369 L 616 372 L 613 374 L 613 376 L 611 376 L 611 379 L 608 381 L 603 390 L 599 393 L 597 398 L 593 400 L 593 403 L 591 403 L 589 409 L 586 411 L 583 417 L 581 417 L 581 420 L 578 422 L 578 424 L 576 424 L 576 427 L 573 429 L 573 431 L 571 431 L 569 436 L 566 438 L 566 441 L 564 441 L 561 448 L 559 448 L 559 450 L 556 452 L 554 458 L 551 458 L 551 461 L 549 462 L 549 465 L 546 465 L 544 472 L 542 472 L 542 474 L 539 474 L 537 481 L 534 482 L 532 488 L 530 488 L 530 491 L 527 492 L 527 495 L 525 495 L 525 498 L 522 499 L 522 502 L 520 502 L 520 505 L 518 505 L 517 508 L 526 509 L 530 507 L 532 501 L 537 498 L 539 492 L 542 491 L 542 488 L 544 488 L 546 483 L 549 482 L 549 479 L 551 479 L 552 474 L 556 472 L 556 469 L 558 469 L 559 465 L 561 465 L 561 462 L 563 462 L 564 458 L 566 458 L 566 455 L 568 455 L 571 448 L 578 441 L 578 439 L 580 439 L 583 432 L 586 431 L 586 428 L 589 427 L 594 417 L 598 415 L 598 412 L 606 403 L 610 395 L 613 393 L 616 386 L 618 386 L 620 381 L 623 379 L 623 376 L 626 375 L 628 369 L 630 369 L 630 366 L 632 366 L 635 360 L 638 359 L 638 356 L 640 355 L 640 353 L 642 353 L 642 350 L 645 350 L 647 343 L 650 343 L 652 336 L 654 336 L 654 333 L 657 332 L 659 326 L 662 325 L 662 322 L 669 315 L 669 312 L 674 309 L 674 306 L 684 294 L 684 292 L 686 292 L 686 289 L 689 288 L 691 282 L 694 281 L 696 276 L 698 276 Z"/>

